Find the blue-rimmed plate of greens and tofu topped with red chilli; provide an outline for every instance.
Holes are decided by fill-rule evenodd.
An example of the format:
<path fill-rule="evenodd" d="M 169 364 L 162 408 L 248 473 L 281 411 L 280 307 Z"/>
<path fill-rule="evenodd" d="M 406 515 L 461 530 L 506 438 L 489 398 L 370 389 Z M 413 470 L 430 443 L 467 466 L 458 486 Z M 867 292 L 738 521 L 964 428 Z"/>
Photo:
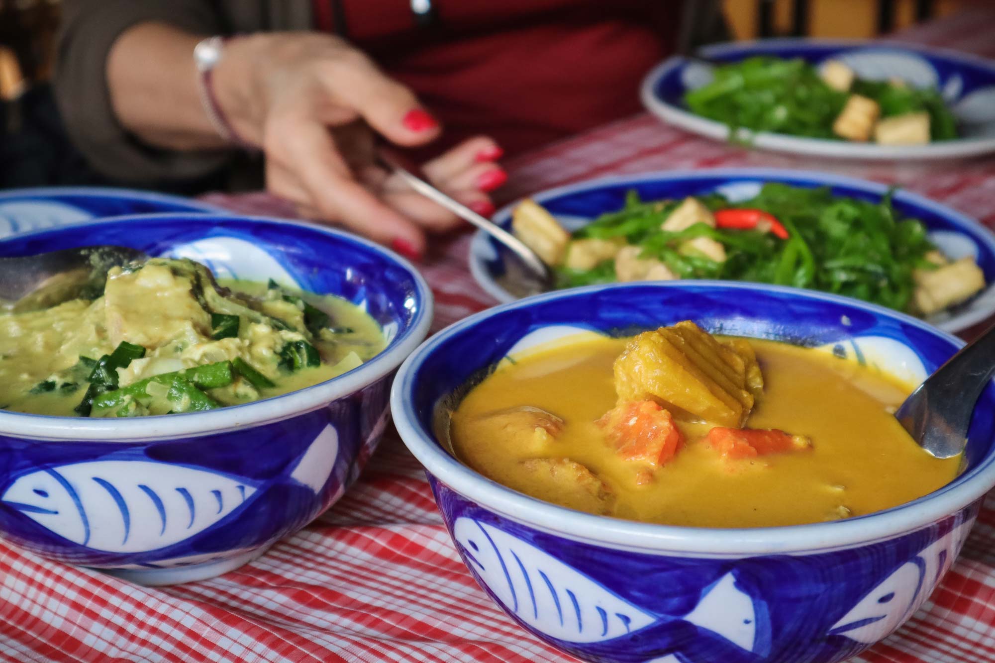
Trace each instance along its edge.
<path fill-rule="evenodd" d="M 622 175 L 539 192 L 495 220 L 556 288 L 734 280 L 873 302 L 959 331 L 995 314 L 995 236 L 901 188 L 818 172 L 728 168 Z M 516 299 L 517 264 L 484 235 L 471 271 Z"/>

